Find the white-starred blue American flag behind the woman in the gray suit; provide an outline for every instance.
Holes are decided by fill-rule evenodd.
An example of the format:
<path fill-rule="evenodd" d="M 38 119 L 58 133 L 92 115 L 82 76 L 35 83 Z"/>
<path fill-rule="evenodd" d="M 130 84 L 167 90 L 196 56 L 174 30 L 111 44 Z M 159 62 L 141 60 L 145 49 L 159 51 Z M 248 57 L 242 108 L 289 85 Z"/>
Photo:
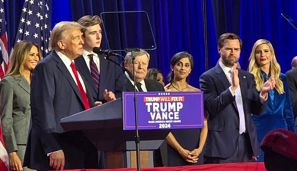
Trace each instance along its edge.
<path fill-rule="evenodd" d="M 18 32 L 15 36 L 15 44 L 21 40 L 30 40 L 40 46 L 42 57 L 45 57 L 50 49 L 50 19 L 47 0 L 25 0 L 20 16 Z"/>

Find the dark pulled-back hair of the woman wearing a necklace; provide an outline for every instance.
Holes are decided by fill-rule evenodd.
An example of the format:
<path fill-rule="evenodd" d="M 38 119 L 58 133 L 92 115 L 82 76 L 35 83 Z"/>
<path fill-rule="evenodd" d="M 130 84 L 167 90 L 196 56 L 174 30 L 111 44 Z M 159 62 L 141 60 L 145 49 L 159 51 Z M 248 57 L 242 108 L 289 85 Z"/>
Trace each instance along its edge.
<path fill-rule="evenodd" d="M 175 66 L 176 63 L 181 60 L 182 58 L 189 58 L 189 61 L 191 63 L 191 69 L 193 68 L 194 66 L 194 61 L 193 61 L 193 56 L 187 52 L 178 52 L 176 53 L 175 55 L 172 56 L 171 60 L 170 60 L 170 73 L 167 75 L 166 77 L 166 81 L 168 83 L 172 83 L 173 82 L 173 79 L 174 79 L 174 73 L 173 71 L 171 70 L 171 67 Z M 189 81 L 189 76 L 187 76 L 186 78 L 186 82 L 188 83 Z"/>

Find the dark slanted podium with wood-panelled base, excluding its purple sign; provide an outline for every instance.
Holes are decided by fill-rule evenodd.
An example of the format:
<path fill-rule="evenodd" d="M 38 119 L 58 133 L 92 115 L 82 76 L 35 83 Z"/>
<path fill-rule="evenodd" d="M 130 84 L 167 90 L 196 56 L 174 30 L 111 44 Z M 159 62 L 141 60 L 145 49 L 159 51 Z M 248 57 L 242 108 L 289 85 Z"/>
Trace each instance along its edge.
<path fill-rule="evenodd" d="M 61 126 L 65 131 L 82 130 L 99 151 L 106 151 L 108 168 L 136 166 L 135 130 L 123 130 L 122 99 L 62 118 Z M 140 157 L 146 163 L 142 167 L 154 166 L 153 150 L 159 148 L 169 132 L 170 129 L 139 130 Z"/>

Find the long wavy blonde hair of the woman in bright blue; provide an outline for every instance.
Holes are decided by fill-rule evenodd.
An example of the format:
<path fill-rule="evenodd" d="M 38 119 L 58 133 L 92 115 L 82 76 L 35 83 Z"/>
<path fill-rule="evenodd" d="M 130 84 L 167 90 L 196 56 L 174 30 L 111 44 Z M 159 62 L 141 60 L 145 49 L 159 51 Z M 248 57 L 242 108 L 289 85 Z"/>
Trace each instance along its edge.
<path fill-rule="evenodd" d="M 275 89 L 277 90 L 277 92 L 279 94 L 283 94 L 283 93 L 285 93 L 284 85 L 283 85 L 282 81 L 279 79 L 280 65 L 279 65 L 279 63 L 277 63 L 277 59 L 275 58 L 273 47 L 268 40 L 260 39 L 260 40 L 257 40 L 257 42 L 255 42 L 253 49 L 252 49 L 252 53 L 249 57 L 249 67 L 247 70 L 248 70 L 248 72 L 252 73 L 255 76 L 256 89 L 257 89 L 257 91 L 261 91 L 264 81 L 263 81 L 263 75 L 260 71 L 260 66 L 257 63 L 255 50 L 256 50 L 257 46 L 262 45 L 262 44 L 268 45 L 270 52 L 273 53 L 272 62 L 270 62 L 269 70 L 270 70 L 270 74 L 274 75 L 276 77 L 277 83 L 275 84 Z"/>

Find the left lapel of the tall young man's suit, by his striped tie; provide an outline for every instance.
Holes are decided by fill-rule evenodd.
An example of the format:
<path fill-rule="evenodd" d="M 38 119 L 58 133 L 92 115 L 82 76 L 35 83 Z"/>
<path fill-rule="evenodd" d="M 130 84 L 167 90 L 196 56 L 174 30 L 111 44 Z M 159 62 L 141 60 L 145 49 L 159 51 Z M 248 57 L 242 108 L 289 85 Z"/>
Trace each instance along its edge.
<path fill-rule="evenodd" d="M 94 89 L 95 92 L 98 92 L 97 87 L 93 81 L 92 75 L 89 71 L 89 68 L 86 64 L 85 59 L 83 58 L 83 56 L 79 56 L 76 60 L 75 60 L 75 65 L 77 66 L 77 69 L 79 70 L 79 72 L 81 73 L 81 75 L 85 76 L 86 81 L 91 85 L 91 87 Z"/>

